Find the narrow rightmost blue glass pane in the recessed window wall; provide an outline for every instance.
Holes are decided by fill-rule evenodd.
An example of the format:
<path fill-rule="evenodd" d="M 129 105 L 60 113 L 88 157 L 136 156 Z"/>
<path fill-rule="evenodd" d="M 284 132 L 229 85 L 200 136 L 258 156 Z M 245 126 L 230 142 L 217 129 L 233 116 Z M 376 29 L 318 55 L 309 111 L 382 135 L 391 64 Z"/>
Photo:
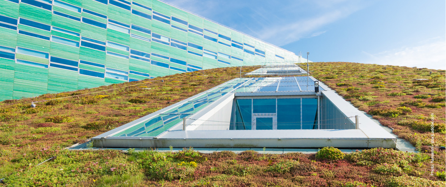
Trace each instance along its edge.
<path fill-rule="evenodd" d="M 302 129 L 317 129 L 318 118 L 316 111 L 318 110 L 317 98 L 302 99 Z"/>

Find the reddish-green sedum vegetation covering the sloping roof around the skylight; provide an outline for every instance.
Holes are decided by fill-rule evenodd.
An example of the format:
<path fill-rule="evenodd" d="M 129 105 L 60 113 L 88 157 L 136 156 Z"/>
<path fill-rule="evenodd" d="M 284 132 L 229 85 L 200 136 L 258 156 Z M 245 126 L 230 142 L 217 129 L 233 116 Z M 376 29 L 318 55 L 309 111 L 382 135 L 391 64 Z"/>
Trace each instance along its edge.
<path fill-rule="evenodd" d="M 444 70 L 345 62 L 311 68 L 315 78 L 421 153 L 376 148 L 343 154 L 332 147 L 317 154 L 62 149 L 240 77 L 240 68 L 220 68 L 0 102 L 0 179 L 5 178 L 0 186 L 445 186 L 445 151 L 435 148 L 431 163 L 429 147 L 431 114 L 434 146 L 445 146 Z M 120 88 L 140 83 L 145 84 Z M 113 88 L 120 89 L 83 95 Z M 29 106 L 53 98 L 62 99 Z"/>

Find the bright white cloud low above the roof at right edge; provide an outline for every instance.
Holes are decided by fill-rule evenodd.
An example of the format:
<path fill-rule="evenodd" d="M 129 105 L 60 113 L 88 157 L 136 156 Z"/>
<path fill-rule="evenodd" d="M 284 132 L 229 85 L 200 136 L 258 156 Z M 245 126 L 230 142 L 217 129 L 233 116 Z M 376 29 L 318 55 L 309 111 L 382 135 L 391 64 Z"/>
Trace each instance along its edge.
<path fill-rule="evenodd" d="M 376 54 L 364 51 L 363 53 L 368 58 L 361 63 L 446 69 L 446 42 L 444 38 L 432 38 L 428 41 L 418 42 L 414 46 L 403 46 Z"/>

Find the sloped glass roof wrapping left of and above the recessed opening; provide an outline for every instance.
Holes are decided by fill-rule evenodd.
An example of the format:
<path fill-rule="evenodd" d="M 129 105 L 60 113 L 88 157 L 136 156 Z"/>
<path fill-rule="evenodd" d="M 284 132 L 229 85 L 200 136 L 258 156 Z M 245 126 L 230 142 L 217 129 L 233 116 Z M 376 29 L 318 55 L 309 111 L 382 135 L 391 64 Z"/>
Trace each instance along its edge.
<path fill-rule="evenodd" d="M 319 87 L 319 90 L 323 89 Z M 136 123 L 133 126 L 129 126 L 124 130 L 120 130 L 112 134 L 111 137 L 155 137 L 182 122 L 182 118 L 187 118 L 197 113 L 230 92 L 314 93 L 314 81 L 310 77 L 236 78 L 223 85 L 209 89 L 205 93 L 199 94 L 196 97 L 190 98 L 186 102 L 175 104 L 173 108 L 167 111 L 156 115 L 145 116 L 143 118 L 147 119 Z"/>

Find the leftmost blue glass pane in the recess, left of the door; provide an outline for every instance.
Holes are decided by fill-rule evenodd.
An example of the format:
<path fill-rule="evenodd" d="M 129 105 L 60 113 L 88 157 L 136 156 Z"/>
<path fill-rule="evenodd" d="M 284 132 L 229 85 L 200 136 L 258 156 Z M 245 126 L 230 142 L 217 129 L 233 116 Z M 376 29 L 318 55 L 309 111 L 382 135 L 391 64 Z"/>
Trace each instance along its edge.
<path fill-rule="evenodd" d="M 235 130 L 251 130 L 251 104 L 251 99 L 235 100 Z"/>

